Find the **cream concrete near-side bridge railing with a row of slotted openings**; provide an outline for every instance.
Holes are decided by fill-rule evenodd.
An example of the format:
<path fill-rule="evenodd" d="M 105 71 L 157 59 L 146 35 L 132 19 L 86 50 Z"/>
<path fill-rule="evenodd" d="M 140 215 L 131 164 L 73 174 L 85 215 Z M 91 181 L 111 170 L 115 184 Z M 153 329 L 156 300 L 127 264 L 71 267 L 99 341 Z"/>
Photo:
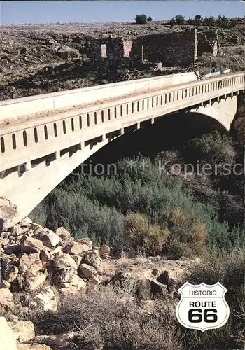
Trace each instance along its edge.
<path fill-rule="evenodd" d="M 140 94 L 83 109 L 64 111 L 53 116 L 4 127 L 0 132 L 0 171 L 29 164 L 76 144 L 124 127 L 151 120 L 188 106 L 195 106 L 225 94 L 244 91 L 244 72 L 186 83 L 158 93 Z"/>

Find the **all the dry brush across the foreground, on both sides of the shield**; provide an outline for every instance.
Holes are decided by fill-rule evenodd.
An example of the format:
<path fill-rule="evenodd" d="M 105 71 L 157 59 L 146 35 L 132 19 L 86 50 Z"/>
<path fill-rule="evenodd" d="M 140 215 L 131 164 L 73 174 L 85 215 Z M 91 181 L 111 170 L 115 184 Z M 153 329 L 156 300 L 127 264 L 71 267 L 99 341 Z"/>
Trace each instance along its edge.
<path fill-rule="evenodd" d="M 177 288 L 187 280 L 193 284 L 220 281 L 228 289 L 225 299 L 230 307 L 229 321 L 207 332 L 186 329 L 177 322 L 176 297 L 166 294 L 154 302 L 137 299 L 135 281 L 61 298 L 56 312 L 38 309 L 27 312 L 18 307 L 3 315 L 8 318 L 8 314 L 15 314 L 32 321 L 36 335 L 77 332 L 76 345 L 85 350 L 244 349 L 244 270 L 241 251 L 209 253 L 202 261 L 193 263 L 185 279 L 179 281 Z M 149 307 L 145 309 L 144 305 Z"/>

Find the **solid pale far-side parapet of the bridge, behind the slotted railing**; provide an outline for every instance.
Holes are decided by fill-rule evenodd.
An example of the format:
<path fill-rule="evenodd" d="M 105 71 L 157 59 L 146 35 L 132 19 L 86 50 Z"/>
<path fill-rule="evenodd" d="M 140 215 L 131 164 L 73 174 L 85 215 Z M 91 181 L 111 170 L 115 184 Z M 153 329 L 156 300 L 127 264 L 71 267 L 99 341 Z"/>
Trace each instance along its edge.
<path fill-rule="evenodd" d="M 117 99 L 119 97 L 162 89 L 181 83 L 196 80 L 194 72 L 123 81 L 106 85 L 83 87 L 81 89 L 52 92 L 38 96 L 12 99 L 0 102 L 1 118 L 29 116 L 31 114 L 46 113 L 57 109 L 73 108 L 77 105 L 92 104 L 93 102 Z"/>

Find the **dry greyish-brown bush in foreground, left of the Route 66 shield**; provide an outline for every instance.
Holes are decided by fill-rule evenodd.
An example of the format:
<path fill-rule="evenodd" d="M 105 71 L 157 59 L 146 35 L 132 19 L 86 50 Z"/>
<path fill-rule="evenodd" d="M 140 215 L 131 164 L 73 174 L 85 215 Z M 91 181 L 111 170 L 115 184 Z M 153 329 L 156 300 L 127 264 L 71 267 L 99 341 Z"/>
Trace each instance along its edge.
<path fill-rule="evenodd" d="M 37 334 L 81 331 L 78 349 L 182 350 L 171 300 L 149 314 L 130 291 L 111 286 L 62 300 L 58 311 L 27 316 Z"/>

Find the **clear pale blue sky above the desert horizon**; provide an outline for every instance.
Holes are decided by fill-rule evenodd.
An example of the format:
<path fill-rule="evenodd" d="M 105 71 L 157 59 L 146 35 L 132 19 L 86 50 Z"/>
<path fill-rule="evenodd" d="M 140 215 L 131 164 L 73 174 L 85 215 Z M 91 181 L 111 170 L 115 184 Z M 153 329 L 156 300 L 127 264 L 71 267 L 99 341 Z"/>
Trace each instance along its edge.
<path fill-rule="evenodd" d="M 175 15 L 193 18 L 226 15 L 243 17 L 241 1 L 0 1 L 0 22 L 6 24 L 50 22 L 134 21 L 144 13 L 153 20 L 167 20 Z"/>

